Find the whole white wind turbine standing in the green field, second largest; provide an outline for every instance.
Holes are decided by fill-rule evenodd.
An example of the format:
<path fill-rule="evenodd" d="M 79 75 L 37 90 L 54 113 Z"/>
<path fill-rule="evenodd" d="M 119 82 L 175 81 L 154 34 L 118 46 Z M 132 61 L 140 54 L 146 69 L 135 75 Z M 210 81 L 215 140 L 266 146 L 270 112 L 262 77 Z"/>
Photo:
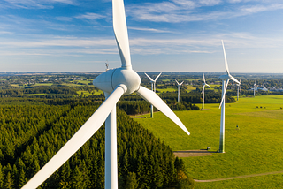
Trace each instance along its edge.
<path fill-rule="evenodd" d="M 228 86 L 230 79 L 232 79 L 234 82 L 236 82 L 238 84 L 240 83 L 237 79 L 233 78 L 233 76 L 229 72 L 223 40 L 222 40 L 222 47 L 223 47 L 223 53 L 224 53 L 226 75 L 221 75 L 219 77 L 220 79 L 222 79 L 222 99 L 221 99 L 220 106 L 219 106 L 219 108 L 221 107 L 219 153 L 225 153 L 225 96 L 226 96 L 226 89 L 227 89 L 227 86 Z"/>

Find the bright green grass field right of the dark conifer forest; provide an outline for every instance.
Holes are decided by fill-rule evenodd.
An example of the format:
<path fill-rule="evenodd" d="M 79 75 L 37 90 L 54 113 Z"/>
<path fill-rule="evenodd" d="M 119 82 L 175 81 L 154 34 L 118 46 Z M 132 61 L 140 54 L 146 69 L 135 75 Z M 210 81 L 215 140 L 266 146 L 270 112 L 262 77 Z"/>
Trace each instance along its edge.
<path fill-rule="evenodd" d="M 201 104 L 199 104 L 201 106 Z M 176 111 L 191 132 L 187 136 L 162 113 L 154 118 L 136 118 L 157 138 L 176 150 L 218 150 L 219 104 L 205 104 L 204 110 Z M 230 178 L 283 170 L 283 96 L 256 96 L 226 103 L 226 153 L 182 157 L 187 174 L 200 180 Z M 149 117 L 149 115 L 146 115 Z M 236 129 L 236 125 L 240 129 Z M 280 188 L 283 175 L 238 178 L 196 183 L 195 188 Z"/>

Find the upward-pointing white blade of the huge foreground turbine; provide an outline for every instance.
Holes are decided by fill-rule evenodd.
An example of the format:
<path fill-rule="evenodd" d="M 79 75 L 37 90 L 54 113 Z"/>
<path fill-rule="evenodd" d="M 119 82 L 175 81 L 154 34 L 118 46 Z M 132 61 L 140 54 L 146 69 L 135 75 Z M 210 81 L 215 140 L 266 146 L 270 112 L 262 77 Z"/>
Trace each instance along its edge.
<path fill-rule="evenodd" d="M 132 69 L 126 15 L 123 0 L 113 0 L 113 29 L 119 49 L 122 67 Z"/>

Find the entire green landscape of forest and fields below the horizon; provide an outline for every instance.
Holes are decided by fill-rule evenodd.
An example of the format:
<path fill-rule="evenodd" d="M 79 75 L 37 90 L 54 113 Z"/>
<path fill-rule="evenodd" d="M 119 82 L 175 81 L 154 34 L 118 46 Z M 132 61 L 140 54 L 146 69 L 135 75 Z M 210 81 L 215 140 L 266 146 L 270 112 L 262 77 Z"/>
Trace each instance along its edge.
<path fill-rule="evenodd" d="M 0 149 L 2 176 L 0 186 L 2 188 L 23 186 L 78 130 L 80 123 L 83 123 L 88 115 L 103 102 L 102 92 L 96 87 L 88 85 L 91 82 L 90 78 L 96 77 L 95 75 L 89 76 L 89 74 L 80 73 L 1 76 L 2 147 Z M 142 85 L 150 88 L 149 79 L 143 76 L 142 72 L 140 75 Z M 153 78 L 156 76 L 155 73 L 149 73 L 149 75 L 152 75 Z M 202 73 L 164 73 L 164 76 L 161 75 L 160 80 L 157 80 L 157 94 L 180 117 L 187 130 L 191 132 L 189 136 L 156 109 L 154 117 L 150 118 L 150 104 L 137 95 L 126 95 L 118 103 L 119 116 L 123 115 L 123 120 L 126 118 L 128 125 L 125 125 L 124 128 L 121 127 L 124 124 L 121 124 L 120 121 L 118 123 L 119 183 L 121 183 L 119 187 L 127 187 L 126 185 L 130 182 L 127 180 L 133 179 L 127 178 L 130 177 L 129 175 L 134 177 L 137 183 L 135 188 L 178 188 L 180 186 L 176 186 L 177 178 L 179 180 L 195 179 L 195 182 L 188 186 L 189 188 L 192 185 L 195 185 L 194 188 L 257 188 L 267 184 L 270 188 L 279 188 L 282 185 L 280 178 L 283 170 L 281 163 L 283 156 L 280 146 L 283 141 L 280 133 L 283 125 L 283 93 L 279 90 L 268 92 L 258 90 L 256 97 L 253 97 L 254 92 L 250 89 L 253 88 L 254 79 L 249 74 L 236 75 L 241 78 L 240 98 L 239 101 L 236 101 L 237 86 L 229 85 L 226 98 L 233 98 L 233 101 L 226 103 L 226 153 L 218 153 L 221 114 L 219 109 L 221 90 L 219 88 L 221 86 L 217 75 L 211 73 L 206 73 L 206 75 L 206 82 L 215 84 L 206 88 L 207 100 L 205 100 L 204 109 L 202 109 L 203 94 L 201 94 L 203 89 Z M 256 77 L 259 87 L 261 85 L 269 87 L 271 84 L 278 88 L 280 86 L 280 76 L 256 75 Z M 30 78 L 34 78 L 37 82 L 30 82 Z M 44 79 L 41 78 L 50 79 L 43 81 Z M 174 79 L 184 80 L 180 89 L 179 105 L 177 105 L 178 85 L 174 83 Z M 194 80 L 193 83 L 191 83 L 192 80 Z M 163 91 L 158 91 L 159 87 L 163 88 Z M 167 91 L 166 88 L 168 88 Z M 216 99 L 216 102 L 212 101 L 213 98 Z M 186 103 L 191 103 L 193 105 L 191 108 L 195 108 L 192 110 L 184 105 Z M 126 116 L 125 111 L 132 118 Z M 78 119 L 78 117 L 81 118 Z M 138 127 L 135 126 L 134 129 L 134 125 Z M 130 129 L 131 127 L 132 129 Z M 126 132 L 128 129 L 132 132 L 134 129 L 136 132 L 148 134 L 133 138 L 125 135 L 128 133 L 133 136 L 135 133 Z M 103 165 L 100 164 L 103 160 L 99 158 L 103 158 L 104 147 L 100 145 L 103 148 L 97 148 L 97 145 L 103 144 L 103 130 L 101 128 L 92 137 L 91 142 L 88 142 L 41 187 L 50 188 L 52 185 L 54 188 L 89 188 L 96 183 L 95 188 L 103 188 Z M 173 164 L 175 164 L 176 157 L 179 156 L 184 166 L 178 168 L 177 165 L 177 170 L 173 170 L 172 173 L 164 173 L 165 175 L 170 174 L 172 181 L 165 181 L 164 177 L 167 177 L 165 175 L 159 176 L 161 177 L 159 181 L 145 181 L 144 179 L 147 177 L 153 177 L 145 173 L 149 170 L 139 170 L 142 168 L 134 167 L 135 161 L 148 161 L 151 153 L 144 154 L 145 149 L 141 147 L 138 148 L 141 148 L 142 151 L 134 153 L 136 147 L 125 146 L 125 142 L 128 143 L 130 139 L 142 139 L 145 136 L 157 143 L 135 142 L 144 147 L 156 143 L 158 149 L 164 147 L 165 150 L 166 148 L 169 150 L 166 152 L 167 155 L 170 154 L 169 156 L 172 157 L 172 160 L 167 161 L 172 161 Z M 151 139 L 151 137 L 153 138 Z M 207 147 L 210 149 L 208 150 Z M 90 150 L 90 148 L 92 149 Z M 45 151 L 47 156 L 44 157 L 45 153 L 38 154 L 38 149 Z M 126 160 L 127 165 L 124 164 L 126 163 L 125 150 L 129 153 L 129 160 Z M 137 156 L 133 153 L 143 154 L 142 158 L 145 159 L 135 159 Z M 152 155 L 154 156 L 154 154 Z M 160 161 L 158 156 L 155 158 Z M 88 157 L 96 159 L 96 161 L 88 162 Z M 85 165 L 81 167 L 81 163 Z M 157 160 L 154 160 L 154 164 L 157 164 Z M 96 170 L 93 170 L 88 166 L 102 166 L 102 168 L 97 167 Z M 149 165 L 146 167 L 149 169 Z M 157 167 L 157 170 L 165 170 L 164 163 Z M 74 172 L 79 174 L 81 178 L 75 177 L 73 174 L 65 176 L 65 169 L 74 169 Z M 100 172 L 99 175 L 96 175 L 97 171 Z M 177 176 L 175 174 L 178 171 L 183 173 Z M 157 172 L 150 174 L 154 175 Z M 100 181 L 98 182 L 97 179 Z M 141 185 L 141 182 L 144 185 Z M 192 181 L 190 180 L 188 183 L 192 183 Z"/>

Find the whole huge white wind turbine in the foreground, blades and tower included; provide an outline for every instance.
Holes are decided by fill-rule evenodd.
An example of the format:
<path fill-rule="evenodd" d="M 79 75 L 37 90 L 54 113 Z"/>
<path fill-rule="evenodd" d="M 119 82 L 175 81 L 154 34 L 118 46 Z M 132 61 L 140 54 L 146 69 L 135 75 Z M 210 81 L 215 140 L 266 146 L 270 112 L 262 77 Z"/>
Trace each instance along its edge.
<path fill-rule="evenodd" d="M 118 44 L 122 66 L 103 72 L 94 79 L 93 84 L 103 90 L 106 99 L 88 121 L 80 127 L 73 137 L 65 143 L 22 189 L 34 189 L 50 177 L 65 163 L 80 147 L 96 133 L 105 121 L 105 188 L 118 189 L 117 165 L 117 120 L 116 104 L 122 95 L 136 92 L 149 103 L 157 107 L 174 123 L 189 134 L 185 125 L 173 111 L 154 92 L 141 86 L 140 76 L 132 70 L 130 49 L 126 27 L 126 16 L 123 0 L 113 0 L 113 28 Z"/>

